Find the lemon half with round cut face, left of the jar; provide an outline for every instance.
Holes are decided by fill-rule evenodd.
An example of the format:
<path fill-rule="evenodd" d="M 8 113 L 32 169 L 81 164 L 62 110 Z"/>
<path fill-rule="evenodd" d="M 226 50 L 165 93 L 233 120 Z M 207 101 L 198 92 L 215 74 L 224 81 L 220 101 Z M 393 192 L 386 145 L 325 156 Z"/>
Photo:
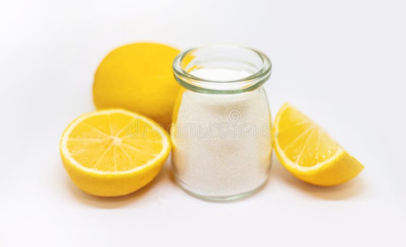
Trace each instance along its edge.
<path fill-rule="evenodd" d="M 121 109 L 85 114 L 62 134 L 60 154 L 72 181 L 97 196 L 134 192 L 158 174 L 171 150 L 153 120 Z"/>

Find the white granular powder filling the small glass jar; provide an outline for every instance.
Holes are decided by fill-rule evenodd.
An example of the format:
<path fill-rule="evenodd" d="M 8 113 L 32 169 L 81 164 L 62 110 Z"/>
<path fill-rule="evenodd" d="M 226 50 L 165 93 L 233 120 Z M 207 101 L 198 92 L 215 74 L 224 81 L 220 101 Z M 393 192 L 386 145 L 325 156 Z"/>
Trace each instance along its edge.
<path fill-rule="evenodd" d="M 235 79 L 246 76 L 234 75 Z M 262 88 L 239 94 L 185 91 L 175 123 L 173 165 L 185 189 L 201 196 L 227 197 L 252 191 L 266 181 L 272 142 Z"/>

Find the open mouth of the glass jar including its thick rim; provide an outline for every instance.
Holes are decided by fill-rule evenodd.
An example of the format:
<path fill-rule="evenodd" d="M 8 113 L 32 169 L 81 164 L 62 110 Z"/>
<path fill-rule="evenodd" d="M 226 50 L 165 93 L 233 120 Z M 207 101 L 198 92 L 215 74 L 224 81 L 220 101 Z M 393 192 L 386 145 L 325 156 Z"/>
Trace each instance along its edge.
<path fill-rule="evenodd" d="M 240 93 L 260 87 L 272 64 L 262 52 L 238 46 L 206 46 L 186 50 L 173 62 L 183 87 L 201 93 Z"/>

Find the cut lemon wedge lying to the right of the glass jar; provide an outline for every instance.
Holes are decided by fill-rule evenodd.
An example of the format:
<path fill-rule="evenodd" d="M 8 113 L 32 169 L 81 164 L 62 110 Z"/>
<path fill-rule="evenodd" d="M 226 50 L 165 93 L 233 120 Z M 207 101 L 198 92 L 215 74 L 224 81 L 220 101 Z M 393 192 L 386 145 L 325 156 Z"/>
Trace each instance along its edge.
<path fill-rule="evenodd" d="M 279 110 L 273 136 L 279 161 L 295 177 L 308 183 L 342 184 L 364 168 L 326 131 L 289 103 Z"/>

